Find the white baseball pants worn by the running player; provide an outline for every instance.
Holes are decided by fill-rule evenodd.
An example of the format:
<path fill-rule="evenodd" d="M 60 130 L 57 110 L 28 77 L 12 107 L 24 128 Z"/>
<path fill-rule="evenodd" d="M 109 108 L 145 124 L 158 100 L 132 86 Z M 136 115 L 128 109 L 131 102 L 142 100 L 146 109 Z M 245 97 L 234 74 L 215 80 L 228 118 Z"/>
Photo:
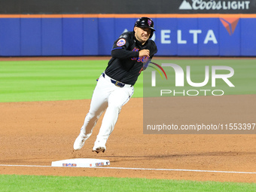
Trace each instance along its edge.
<path fill-rule="evenodd" d="M 107 142 L 108 137 L 114 130 L 117 118 L 123 105 L 133 96 L 133 86 L 126 84 L 124 87 L 117 87 L 111 83 L 111 78 L 101 75 L 90 103 L 90 110 L 84 119 L 84 125 L 81 127 L 81 136 L 89 138 L 93 133 L 93 127 L 96 125 L 101 114 L 105 111 L 96 141 L 103 144 Z"/>

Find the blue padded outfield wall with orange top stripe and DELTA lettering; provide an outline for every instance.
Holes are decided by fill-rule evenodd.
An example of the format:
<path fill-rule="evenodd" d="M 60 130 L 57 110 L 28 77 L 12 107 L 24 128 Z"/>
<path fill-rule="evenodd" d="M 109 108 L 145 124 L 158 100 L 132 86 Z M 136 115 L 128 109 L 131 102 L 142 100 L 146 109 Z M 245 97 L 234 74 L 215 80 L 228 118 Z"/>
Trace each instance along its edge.
<path fill-rule="evenodd" d="M 109 56 L 138 16 L 0 15 L 0 56 Z M 157 56 L 256 56 L 256 17 L 152 15 Z"/>

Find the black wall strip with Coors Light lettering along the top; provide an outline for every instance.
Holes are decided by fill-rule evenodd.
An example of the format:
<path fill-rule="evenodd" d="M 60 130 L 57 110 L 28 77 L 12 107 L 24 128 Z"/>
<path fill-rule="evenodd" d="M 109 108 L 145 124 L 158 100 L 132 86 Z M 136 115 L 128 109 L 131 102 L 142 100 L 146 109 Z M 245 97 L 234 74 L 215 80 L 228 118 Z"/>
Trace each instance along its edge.
<path fill-rule="evenodd" d="M 256 0 L 0 0 L 0 14 L 256 14 Z"/>

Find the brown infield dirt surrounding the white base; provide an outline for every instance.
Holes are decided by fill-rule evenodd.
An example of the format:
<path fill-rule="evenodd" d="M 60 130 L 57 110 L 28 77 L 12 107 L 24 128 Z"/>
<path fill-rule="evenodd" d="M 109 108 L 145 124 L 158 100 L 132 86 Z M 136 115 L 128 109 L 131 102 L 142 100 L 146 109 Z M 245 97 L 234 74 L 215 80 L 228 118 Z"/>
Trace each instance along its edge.
<path fill-rule="evenodd" d="M 253 104 L 244 112 L 245 115 L 256 117 L 256 97 L 238 97 L 241 101 L 247 99 Z M 72 148 L 89 109 L 90 100 L 0 103 L 0 164 L 50 166 L 55 160 L 102 158 L 110 160 L 110 167 L 197 169 L 233 173 L 30 166 L 0 166 L 0 173 L 256 181 L 256 174 L 236 173 L 256 172 L 254 135 L 145 135 L 142 130 L 142 101 L 131 99 L 123 106 L 104 154 L 94 154 L 91 151 L 102 117 L 84 148 L 81 151 L 73 151 Z M 186 104 L 184 102 L 182 105 Z M 186 111 L 191 110 L 187 103 Z"/>

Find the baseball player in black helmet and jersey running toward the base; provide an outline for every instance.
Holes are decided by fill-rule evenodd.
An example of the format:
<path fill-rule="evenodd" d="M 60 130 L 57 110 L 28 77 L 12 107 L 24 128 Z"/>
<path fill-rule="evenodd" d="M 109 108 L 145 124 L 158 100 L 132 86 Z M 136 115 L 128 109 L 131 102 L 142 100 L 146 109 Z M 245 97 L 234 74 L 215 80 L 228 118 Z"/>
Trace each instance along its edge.
<path fill-rule="evenodd" d="M 84 119 L 81 132 L 75 139 L 74 149 L 80 150 L 84 142 L 92 135 L 102 112 L 105 115 L 93 151 L 106 151 L 106 142 L 114 130 L 120 110 L 133 96 L 133 85 L 140 72 L 146 68 L 148 62 L 157 53 L 157 46 L 149 38 L 154 34 L 154 23 L 148 17 L 139 18 L 133 32 L 123 32 L 114 41 L 111 50 L 111 59 L 105 72 L 100 75 L 93 91 L 90 110 Z"/>

